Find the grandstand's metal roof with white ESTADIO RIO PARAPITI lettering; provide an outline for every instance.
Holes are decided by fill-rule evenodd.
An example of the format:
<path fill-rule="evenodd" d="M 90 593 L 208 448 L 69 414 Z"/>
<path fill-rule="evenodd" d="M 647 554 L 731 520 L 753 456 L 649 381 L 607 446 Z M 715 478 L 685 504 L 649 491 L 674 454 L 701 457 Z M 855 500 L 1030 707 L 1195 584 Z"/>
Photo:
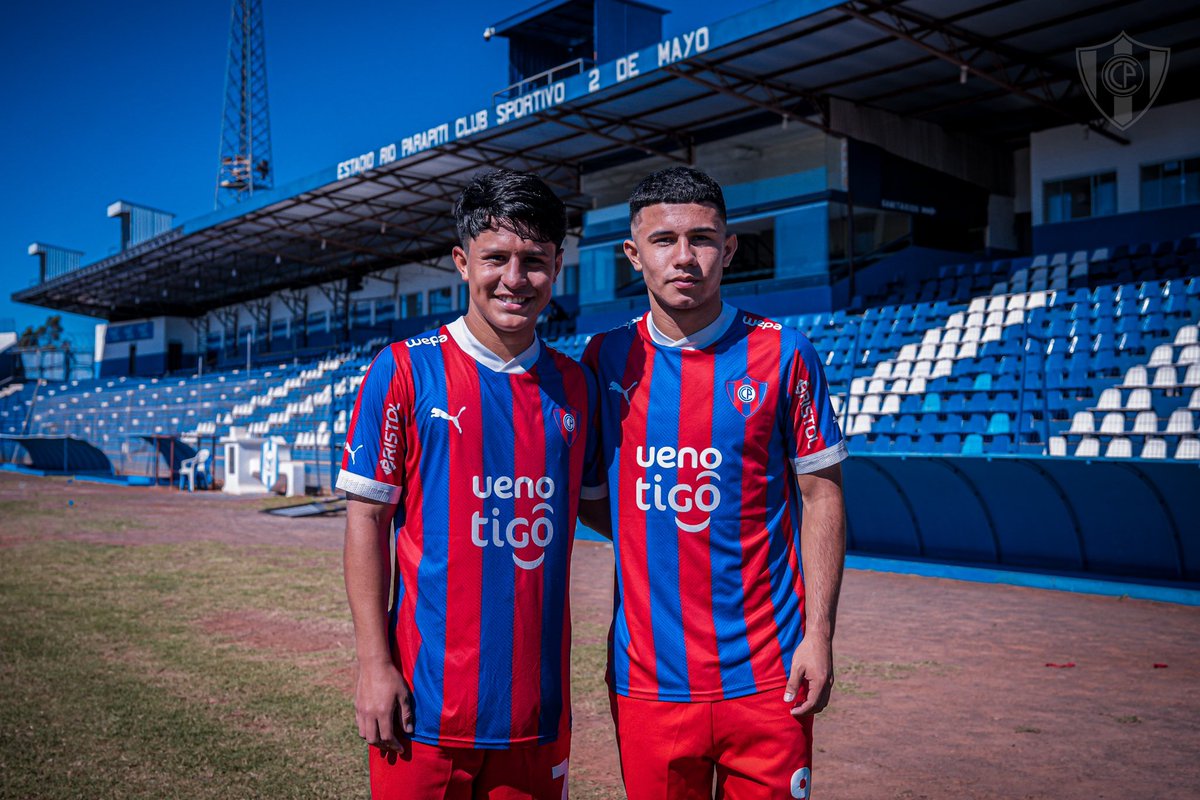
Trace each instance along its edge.
<path fill-rule="evenodd" d="M 467 112 L 13 299 L 109 320 L 197 317 L 404 264 L 449 269 L 450 207 L 491 167 L 539 173 L 577 223 L 581 175 L 781 119 L 836 133 L 842 98 L 1001 146 L 1098 121 L 1075 48 L 1121 30 L 1170 47 L 1157 103 L 1200 96 L 1200 10 L 1151 0 L 776 0 Z"/>

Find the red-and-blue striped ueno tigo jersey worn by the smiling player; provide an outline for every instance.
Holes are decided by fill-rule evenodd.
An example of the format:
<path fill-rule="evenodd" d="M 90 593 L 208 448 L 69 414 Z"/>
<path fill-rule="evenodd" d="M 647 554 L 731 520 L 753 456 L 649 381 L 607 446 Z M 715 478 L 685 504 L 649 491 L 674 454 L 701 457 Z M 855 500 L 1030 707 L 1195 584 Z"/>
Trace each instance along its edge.
<path fill-rule="evenodd" d="M 568 579 L 595 395 L 565 355 L 535 341 L 504 362 L 461 318 L 367 369 L 337 487 L 397 504 L 390 633 L 416 741 L 505 748 L 569 724 Z"/>

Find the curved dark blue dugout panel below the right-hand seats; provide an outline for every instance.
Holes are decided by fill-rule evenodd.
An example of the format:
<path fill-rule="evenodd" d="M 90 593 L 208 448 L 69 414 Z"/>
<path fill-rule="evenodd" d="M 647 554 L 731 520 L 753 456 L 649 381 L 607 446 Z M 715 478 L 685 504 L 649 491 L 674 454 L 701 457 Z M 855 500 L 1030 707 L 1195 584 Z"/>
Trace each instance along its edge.
<path fill-rule="evenodd" d="M 1200 584 L 1200 464 L 853 456 L 851 549 Z"/>

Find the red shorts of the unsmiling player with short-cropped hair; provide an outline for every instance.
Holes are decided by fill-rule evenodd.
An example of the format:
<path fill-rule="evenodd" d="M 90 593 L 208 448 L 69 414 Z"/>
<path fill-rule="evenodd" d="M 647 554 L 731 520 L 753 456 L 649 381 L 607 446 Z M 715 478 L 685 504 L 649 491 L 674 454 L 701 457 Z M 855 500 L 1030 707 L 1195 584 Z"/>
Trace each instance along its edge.
<path fill-rule="evenodd" d="M 666 703 L 610 694 L 629 800 L 809 796 L 812 717 L 784 690 L 731 700 Z M 798 700 L 797 700 L 798 702 Z"/>

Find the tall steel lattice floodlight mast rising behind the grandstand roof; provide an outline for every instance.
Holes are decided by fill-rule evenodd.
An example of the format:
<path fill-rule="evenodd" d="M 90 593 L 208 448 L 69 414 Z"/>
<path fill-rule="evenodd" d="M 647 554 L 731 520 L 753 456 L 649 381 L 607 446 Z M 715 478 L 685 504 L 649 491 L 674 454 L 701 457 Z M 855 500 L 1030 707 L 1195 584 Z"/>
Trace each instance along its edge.
<path fill-rule="evenodd" d="M 233 0 L 215 207 L 275 184 L 262 0 Z"/>

